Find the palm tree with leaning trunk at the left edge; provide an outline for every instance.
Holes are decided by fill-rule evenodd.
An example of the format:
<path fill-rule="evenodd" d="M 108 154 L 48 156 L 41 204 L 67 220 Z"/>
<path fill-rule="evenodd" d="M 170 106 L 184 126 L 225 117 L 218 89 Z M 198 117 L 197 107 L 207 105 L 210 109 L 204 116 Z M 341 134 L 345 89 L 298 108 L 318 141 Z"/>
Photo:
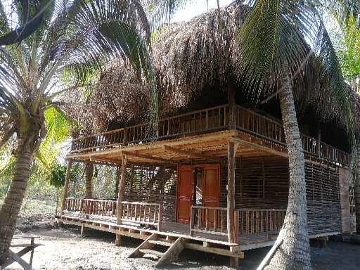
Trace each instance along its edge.
<path fill-rule="evenodd" d="M 152 88 L 155 79 L 148 46 L 148 25 L 139 1 L 20 1 L 9 16 L 1 2 L 1 34 L 41 23 L 26 39 L 0 47 L 0 148 L 15 139 L 15 173 L 0 210 L 0 265 L 8 256 L 18 212 L 23 203 L 34 155 L 46 136 L 44 111 L 56 106 L 56 96 L 77 91 L 89 76 L 101 72 L 113 58 L 129 60 L 143 70 Z M 17 20 L 16 22 L 14 22 Z M 12 44 L 16 41 L 16 44 Z M 19 42 L 20 41 L 20 42 Z M 157 117 L 156 106 L 151 117 Z"/>

